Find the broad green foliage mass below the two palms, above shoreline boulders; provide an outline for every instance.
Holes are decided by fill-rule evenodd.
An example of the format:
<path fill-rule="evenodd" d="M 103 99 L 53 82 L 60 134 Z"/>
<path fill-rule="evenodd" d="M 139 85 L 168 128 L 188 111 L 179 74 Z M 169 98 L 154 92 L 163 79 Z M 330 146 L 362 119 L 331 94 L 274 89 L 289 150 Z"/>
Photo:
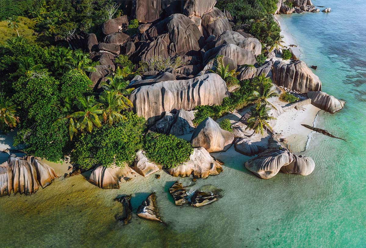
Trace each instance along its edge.
<path fill-rule="evenodd" d="M 126 120 L 110 127 L 103 125 L 79 136 L 71 152 L 72 162 L 84 169 L 96 164 L 105 167 L 130 164 L 136 157 L 136 151 L 142 148 L 146 121 L 131 112 L 126 116 Z"/>

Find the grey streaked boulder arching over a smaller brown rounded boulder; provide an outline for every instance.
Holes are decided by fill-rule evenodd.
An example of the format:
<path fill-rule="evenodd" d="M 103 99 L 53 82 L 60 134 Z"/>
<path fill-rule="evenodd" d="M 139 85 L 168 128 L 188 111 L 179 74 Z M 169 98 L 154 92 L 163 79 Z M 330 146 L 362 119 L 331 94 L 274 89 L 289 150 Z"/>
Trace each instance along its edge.
<path fill-rule="evenodd" d="M 255 63 L 257 63 L 254 53 L 251 50 L 246 48 L 240 48 L 235 44 L 224 44 L 208 50 L 203 56 L 203 63 L 207 64 L 209 60 L 220 55 L 231 58 L 235 61 L 237 65 L 254 65 Z"/>

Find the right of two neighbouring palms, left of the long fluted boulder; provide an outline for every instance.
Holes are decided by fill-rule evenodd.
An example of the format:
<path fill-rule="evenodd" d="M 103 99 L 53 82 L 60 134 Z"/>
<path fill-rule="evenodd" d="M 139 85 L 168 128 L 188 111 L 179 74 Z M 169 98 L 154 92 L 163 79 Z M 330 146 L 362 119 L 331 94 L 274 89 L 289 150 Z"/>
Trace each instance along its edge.
<path fill-rule="evenodd" d="M 101 117 L 104 123 L 108 123 L 111 126 L 119 120 L 126 119 L 126 117 L 121 114 L 121 111 L 128 109 L 129 106 L 121 100 L 121 97 L 122 95 L 107 90 L 104 90 L 100 95 L 99 99 L 103 104 L 103 113 Z"/>

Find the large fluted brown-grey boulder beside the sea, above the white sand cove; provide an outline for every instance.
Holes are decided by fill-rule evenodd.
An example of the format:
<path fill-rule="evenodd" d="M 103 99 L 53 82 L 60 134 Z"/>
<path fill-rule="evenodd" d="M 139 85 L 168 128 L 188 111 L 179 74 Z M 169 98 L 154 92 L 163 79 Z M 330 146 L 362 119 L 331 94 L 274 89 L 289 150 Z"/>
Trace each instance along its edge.
<path fill-rule="evenodd" d="M 289 90 L 301 93 L 321 91 L 321 82 L 318 76 L 301 60 L 292 61 L 290 64 L 276 61 L 273 64 L 273 79 L 277 85 Z"/>

